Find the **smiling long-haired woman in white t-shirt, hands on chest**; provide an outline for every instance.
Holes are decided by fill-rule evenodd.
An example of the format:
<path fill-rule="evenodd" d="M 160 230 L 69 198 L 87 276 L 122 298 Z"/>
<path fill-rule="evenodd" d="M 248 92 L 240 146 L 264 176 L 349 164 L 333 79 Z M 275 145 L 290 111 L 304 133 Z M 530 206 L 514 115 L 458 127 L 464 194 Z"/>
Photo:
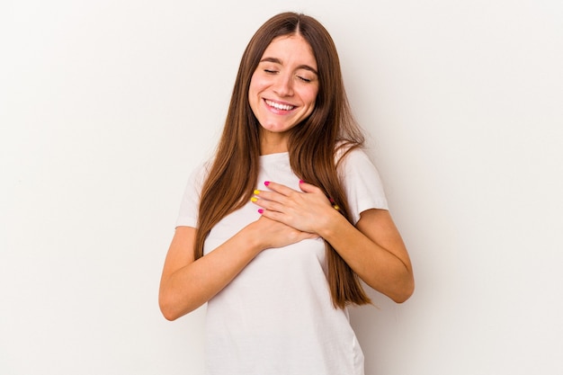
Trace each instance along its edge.
<path fill-rule="evenodd" d="M 412 267 L 361 150 L 333 40 L 274 16 L 243 55 L 217 154 L 184 193 L 159 304 L 207 306 L 209 374 L 363 373 L 359 279 L 403 302 Z"/>

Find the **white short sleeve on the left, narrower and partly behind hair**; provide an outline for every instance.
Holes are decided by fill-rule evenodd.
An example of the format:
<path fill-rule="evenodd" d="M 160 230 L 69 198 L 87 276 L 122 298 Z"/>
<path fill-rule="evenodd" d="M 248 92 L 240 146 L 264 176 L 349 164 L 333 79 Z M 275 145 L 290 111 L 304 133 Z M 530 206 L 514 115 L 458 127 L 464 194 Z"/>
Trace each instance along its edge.
<path fill-rule="evenodd" d="M 201 164 L 192 171 L 183 192 L 182 203 L 176 219 L 176 227 L 196 228 L 200 207 L 201 186 L 208 172 L 207 164 Z"/>

